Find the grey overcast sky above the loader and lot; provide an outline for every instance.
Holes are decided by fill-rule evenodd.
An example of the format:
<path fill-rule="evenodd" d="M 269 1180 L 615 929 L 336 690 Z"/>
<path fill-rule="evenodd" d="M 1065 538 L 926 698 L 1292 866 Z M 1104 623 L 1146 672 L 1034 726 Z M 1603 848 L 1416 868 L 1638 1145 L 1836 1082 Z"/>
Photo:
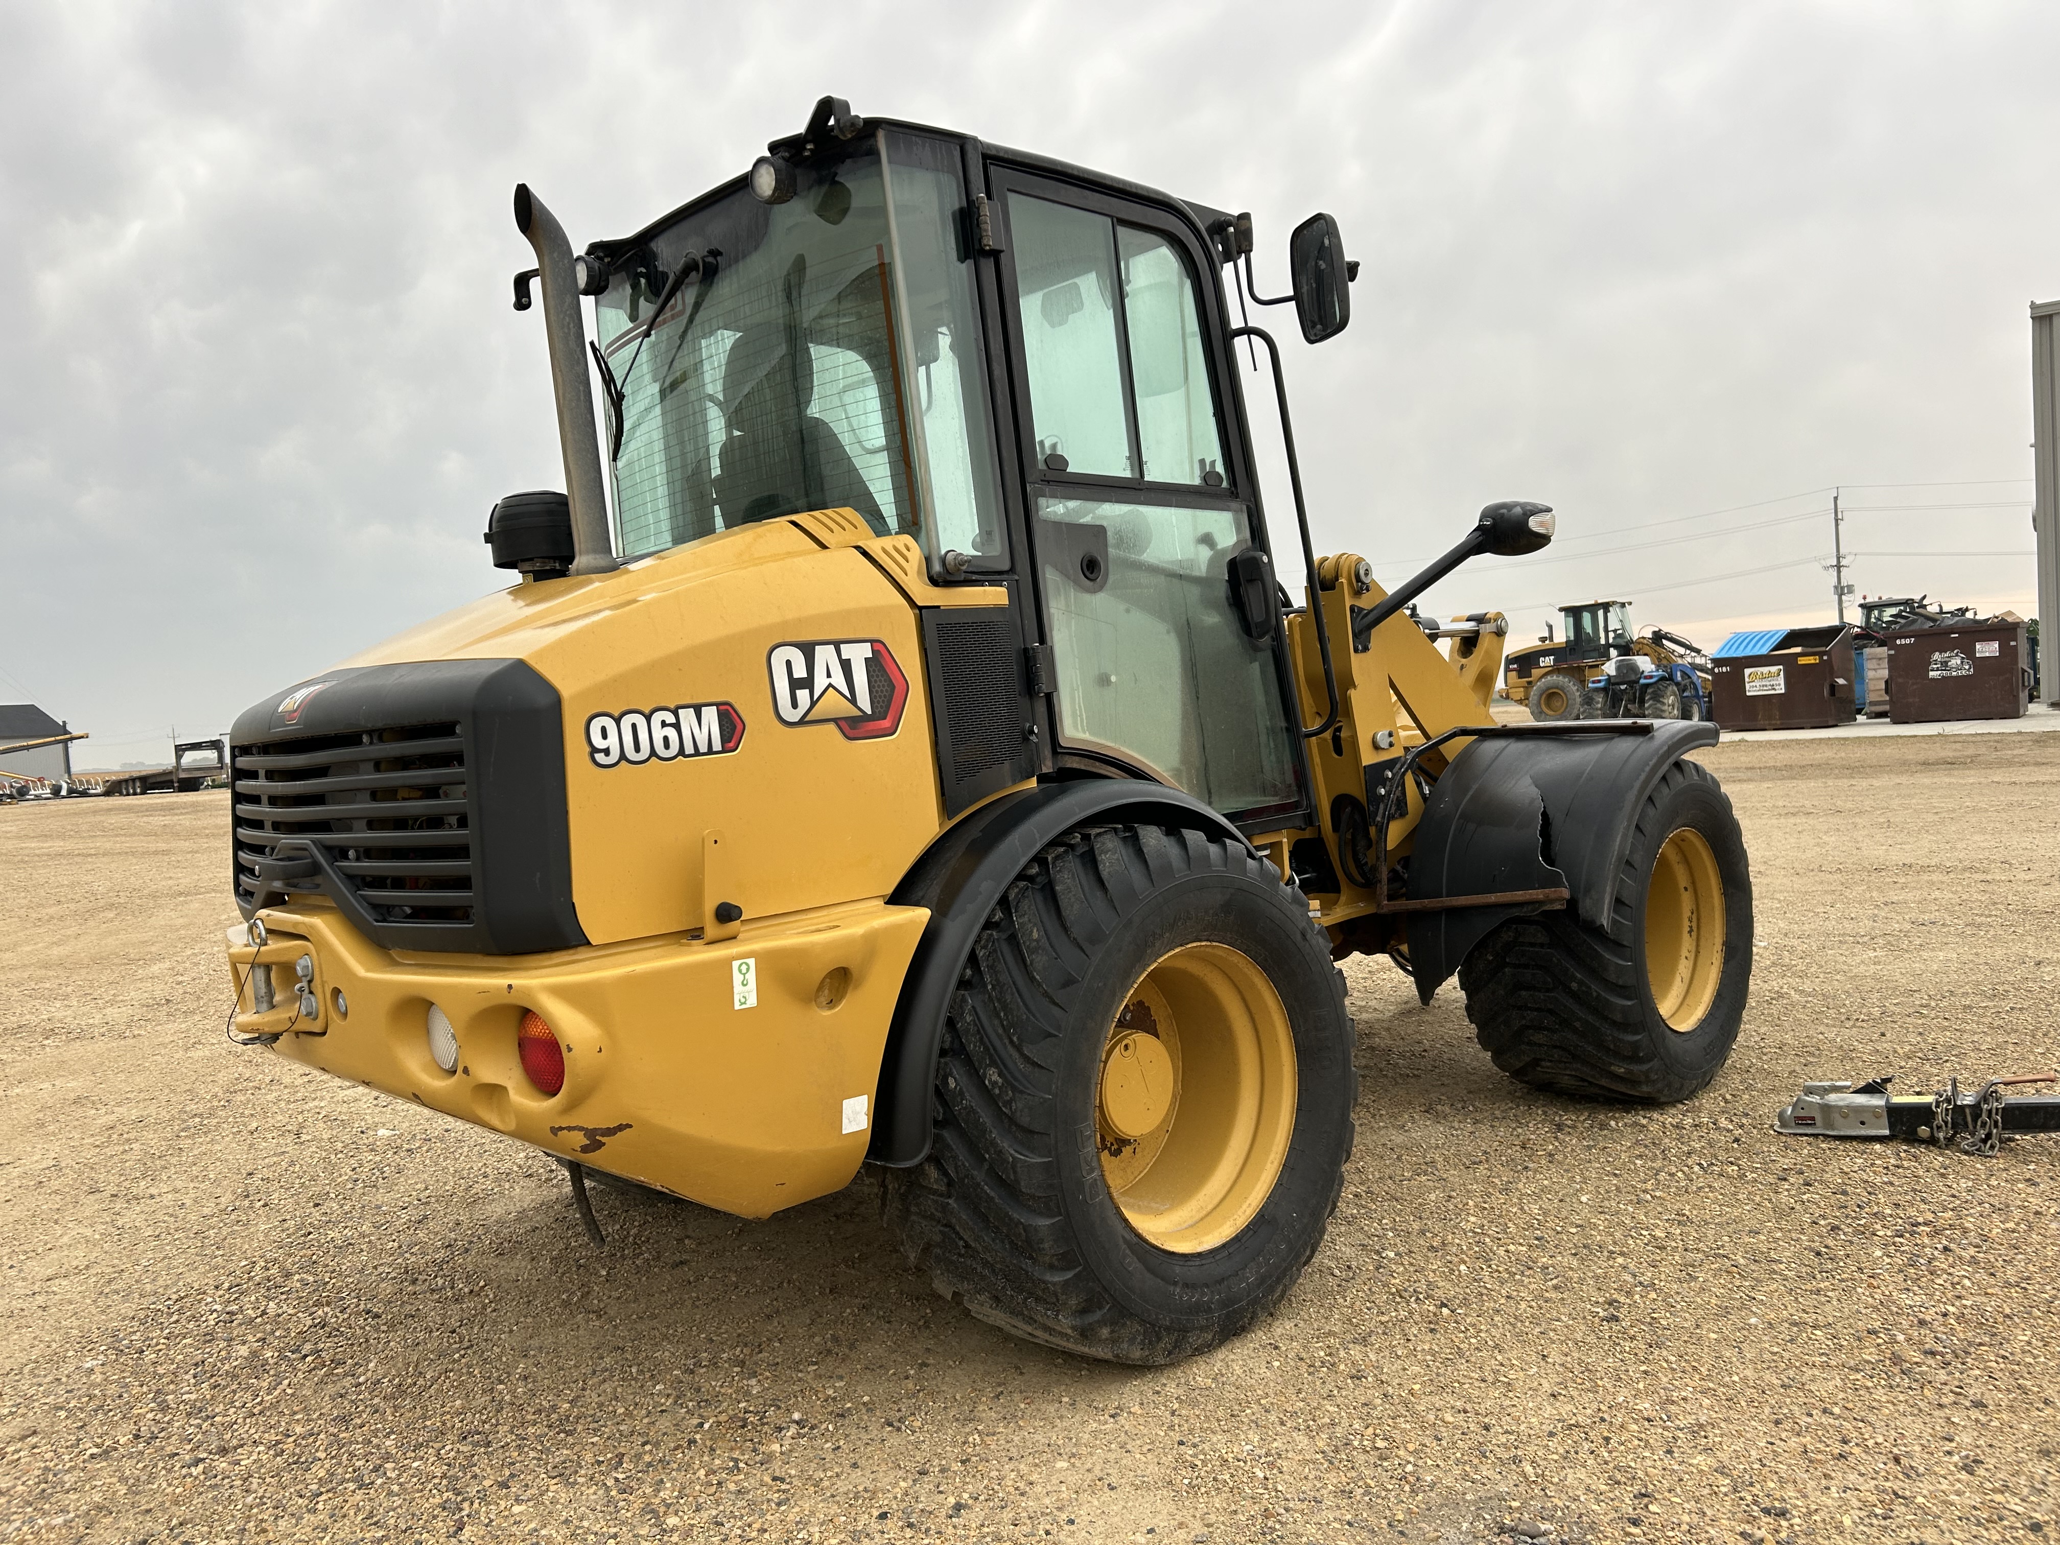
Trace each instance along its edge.
<path fill-rule="evenodd" d="M 562 486 L 513 183 L 575 245 L 624 235 L 824 93 L 1248 208 L 1273 290 L 1290 227 L 1337 214 L 1353 325 L 1288 346 L 1318 548 L 1393 585 L 1485 501 L 1559 511 L 1440 612 L 1535 634 L 1621 595 L 1704 645 L 1819 620 L 1833 484 L 1862 591 L 2033 610 L 2031 558 L 1986 554 L 2031 552 L 2050 0 L 4 0 L 0 25 L 0 700 L 91 731 L 80 766 L 499 587 L 488 507 Z M 1265 492 L 1292 529 L 1285 476 Z"/>

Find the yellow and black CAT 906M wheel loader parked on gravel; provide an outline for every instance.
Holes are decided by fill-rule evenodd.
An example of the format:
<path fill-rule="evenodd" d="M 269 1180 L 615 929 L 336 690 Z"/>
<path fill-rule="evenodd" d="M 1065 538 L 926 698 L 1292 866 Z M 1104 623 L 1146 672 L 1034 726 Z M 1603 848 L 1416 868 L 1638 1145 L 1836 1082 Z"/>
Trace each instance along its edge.
<path fill-rule="evenodd" d="M 1716 1073 L 1716 731 L 1496 725 L 1502 618 L 1409 620 L 1543 505 L 1395 591 L 1314 556 L 1246 216 L 824 99 L 637 235 L 515 218 L 569 492 L 494 507 L 511 589 L 237 721 L 237 1038 L 746 1217 L 871 1164 L 939 1290 L 1123 1362 L 1314 1255 L 1351 952 L 1539 1088 Z M 1290 268 L 1341 332 L 1335 220 Z"/>

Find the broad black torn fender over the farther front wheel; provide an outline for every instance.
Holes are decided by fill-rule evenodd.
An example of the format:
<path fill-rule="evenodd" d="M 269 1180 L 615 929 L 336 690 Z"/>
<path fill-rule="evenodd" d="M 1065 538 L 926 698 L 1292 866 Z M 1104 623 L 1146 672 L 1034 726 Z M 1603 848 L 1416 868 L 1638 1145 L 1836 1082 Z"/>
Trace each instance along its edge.
<path fill-rule="evenodd" d="M 1432 785 L 1409 853 L 1409 898 L 1481 896 L 1566 886 L 1582 923 L 1619 933 L 1617 871 L 1632 822 L 1652 785 L 1681 756 L 1716 744 L 1716 725 L 1654 721 L 1648 735 L 1475 740 Z M 1539 902 L 1409 915 L 1417 997 L 1432 993 L 1498 925 Z"/>

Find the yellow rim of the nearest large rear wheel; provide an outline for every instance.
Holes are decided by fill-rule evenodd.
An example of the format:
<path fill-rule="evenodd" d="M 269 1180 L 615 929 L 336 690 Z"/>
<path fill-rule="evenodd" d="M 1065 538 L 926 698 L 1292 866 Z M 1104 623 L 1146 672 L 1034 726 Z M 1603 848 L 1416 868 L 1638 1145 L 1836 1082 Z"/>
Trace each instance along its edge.
<path fill-rule="evenodd" d="M 1195 1255 L 1265 1205 L 1294 1137 L 1288 1009 L 1226 943 L 1162 956 L 1102 1046 L 1094 1117 L 1102 1178 L 1131 1228 Z"/>

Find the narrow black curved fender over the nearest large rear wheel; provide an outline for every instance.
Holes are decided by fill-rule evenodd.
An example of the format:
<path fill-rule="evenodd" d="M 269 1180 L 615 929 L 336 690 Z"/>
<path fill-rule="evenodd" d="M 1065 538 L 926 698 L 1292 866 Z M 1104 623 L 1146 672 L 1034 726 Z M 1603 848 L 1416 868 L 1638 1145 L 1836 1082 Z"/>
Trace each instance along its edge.
<path fill-rule="evenodd" d="M 1236 826 L 1199 799 L 1129 779 L 1040 783 L 981 805 L 943 832 L 890 898 L 896 906 L 927 906 L 929 923 L 902 978 L 880 1063 L 865 1156 L 873 1164 L 921 1164 L 929 1154 L 943 1016 L 972 941 L 1024 865 L 1046 843 L 1088 822 L 1158 822 L 1248 847 Z"/>

